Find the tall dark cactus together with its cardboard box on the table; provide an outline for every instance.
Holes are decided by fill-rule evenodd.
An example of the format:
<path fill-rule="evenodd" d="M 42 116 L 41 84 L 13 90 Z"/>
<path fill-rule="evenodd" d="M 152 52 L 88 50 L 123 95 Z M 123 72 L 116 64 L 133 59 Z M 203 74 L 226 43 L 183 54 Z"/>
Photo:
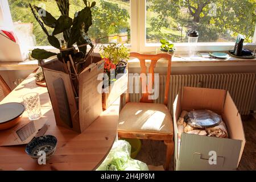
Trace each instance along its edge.
<path fill-rule="evenodd" d="M 83 1 L 84 9 L 76 12 L 73 19 L 69 17 L 69 0 L 56 0 L 61 13 L 57 19 L 41 7 L 30 4 L 49 44 L 59 49 L 55 53 L 36 48 L 31 53 L 43 68 L 56 124 L 79 133 L 102 112 L 101 92 L 97 90 L 101 80 L 97 80 L 97 76 L 104 71 L 100 55 L 92 55 L 94 46 L 87 34 L 92 25 L 91 9 L 96 2 Z M 51 34 L 46 26 L 53 29 Z M 58 34 L 64 38 L 61 44 L 56 38 Z M 55 58 L 44 63 L 44 59 L 52 56 Z M 84 109 L 84 103 L 89 104 L 90 109 Z"/>

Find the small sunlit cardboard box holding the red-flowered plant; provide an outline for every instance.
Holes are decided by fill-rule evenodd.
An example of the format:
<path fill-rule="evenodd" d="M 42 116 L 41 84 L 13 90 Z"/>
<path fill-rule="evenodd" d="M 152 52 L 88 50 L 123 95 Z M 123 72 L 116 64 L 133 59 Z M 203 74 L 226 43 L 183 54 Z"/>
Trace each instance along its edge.
<path fill-rule="evenodd" d="M 121 94 L 126 92 L 128 84 L 128 70 L 121 75 L 112 85 L 104 89 L 102 93 L 102 108 L 108 109 L 108 107 L 115 101 Z"/>

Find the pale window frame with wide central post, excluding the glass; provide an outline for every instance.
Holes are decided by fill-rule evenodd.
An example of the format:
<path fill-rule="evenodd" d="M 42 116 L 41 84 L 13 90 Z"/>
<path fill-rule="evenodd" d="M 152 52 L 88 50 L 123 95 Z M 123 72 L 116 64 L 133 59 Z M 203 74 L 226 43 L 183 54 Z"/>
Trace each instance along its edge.
<path fill-rule="evenodd" d="M 156 52 L 160 43 L 146 43 L 146 0 L 130 0 L 130 37 L 131 44 L 128 46 L 133 52 Z M 9 28 L 13 27 L 13 20 L 11 18 L 10 7 L 7 0 L 0 1 L 0 14 L 2 13 L 2 20 L 8 24 Z M 188 43 L 174 43 L 176 52 L 186 53 Z M 255 49 L 256 47 L 256 24 L 253 37 L 253 43 L 244 43 L 245 48 Z M 234 43 L 197 43 L 197 51 L 228 51 L 233 49 Z M 36 46 L 36 48 L 45 48 L 47 50 L 54 50 L 52 46 Z M 94 50 L 98 52 L 98 48 Z"/>

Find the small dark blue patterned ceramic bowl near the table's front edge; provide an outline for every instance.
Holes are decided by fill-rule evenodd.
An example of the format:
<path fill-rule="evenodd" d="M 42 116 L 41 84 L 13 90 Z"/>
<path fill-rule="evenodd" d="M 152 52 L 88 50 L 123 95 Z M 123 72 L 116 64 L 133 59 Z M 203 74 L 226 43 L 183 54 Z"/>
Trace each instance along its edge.
<path fill-rule="evenodd" d="M 43 135 L 32 139 L 30 143 L 27 144 L 25 151 L 32 159 L 38 159 L 41 156 L 38 155 L 38 152 L 44 151 L 46 152 L 46 160 L 48 160 L 54 154 L 56 146 L 56 137 L 52 135 Z"/>

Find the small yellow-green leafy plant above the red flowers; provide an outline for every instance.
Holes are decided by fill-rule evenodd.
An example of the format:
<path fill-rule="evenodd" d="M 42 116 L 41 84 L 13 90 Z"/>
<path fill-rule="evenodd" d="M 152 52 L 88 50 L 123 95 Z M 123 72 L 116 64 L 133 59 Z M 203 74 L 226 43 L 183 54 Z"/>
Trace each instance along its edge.
<path fill-rule="evenodd" d="M 109 44 L 108 46 L 102 46 L 100 48 L 101 57 L 108 58 L 112 63 L 117 65 L 120 61 L 126 61 L 130 56 L 130 49 L 125 45 L 118 45 L 117 43 Z"/>

